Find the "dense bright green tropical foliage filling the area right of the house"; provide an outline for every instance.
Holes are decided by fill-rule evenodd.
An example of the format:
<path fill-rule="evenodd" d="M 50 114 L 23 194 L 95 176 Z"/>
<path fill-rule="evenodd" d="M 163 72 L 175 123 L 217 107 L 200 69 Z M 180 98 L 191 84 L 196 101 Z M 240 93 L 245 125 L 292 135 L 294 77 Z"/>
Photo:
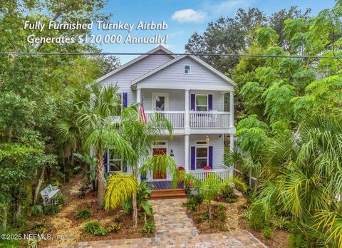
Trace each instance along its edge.
<path fill-rule="evenodd" d="M 284 41 L 269 26 L 255 31 L 247 53 L 337 56 L 341 2 L 312 18 L 284 22 Z M 319 31 L 318 31 L 319 30 Z M 284 228 L 294 246 L 341 247 L 341 66 L 338 59 L 242 58 L 239 84 L 238 162 L 257 175 L 246 212 L 254 229 Z M 278 223 L 278 224 L 277 224 Z"/>

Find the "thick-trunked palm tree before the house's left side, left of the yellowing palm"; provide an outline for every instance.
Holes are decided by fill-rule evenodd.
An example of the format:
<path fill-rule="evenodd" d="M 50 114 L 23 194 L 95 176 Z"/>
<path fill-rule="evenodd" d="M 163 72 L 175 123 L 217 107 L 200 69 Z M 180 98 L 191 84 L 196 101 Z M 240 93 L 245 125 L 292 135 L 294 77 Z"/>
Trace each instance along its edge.
<path fill-rule="evenodd" d="M 105 148 L 115 147 L 119 156 L 125 160 L 135 161 L 135 153 L 128 140 L 118 132 L 118 125 L 112 118 L 119 115 L 120 98 L 118 86 L 90 87 L 90 101 L 83 103 L 78 122 L 82 125 L 85 135 L 85 148 L 91 149 L 96 157 L 96 178 L 98 180 L 98 206 L 104 199 L 103 155 Z"/>

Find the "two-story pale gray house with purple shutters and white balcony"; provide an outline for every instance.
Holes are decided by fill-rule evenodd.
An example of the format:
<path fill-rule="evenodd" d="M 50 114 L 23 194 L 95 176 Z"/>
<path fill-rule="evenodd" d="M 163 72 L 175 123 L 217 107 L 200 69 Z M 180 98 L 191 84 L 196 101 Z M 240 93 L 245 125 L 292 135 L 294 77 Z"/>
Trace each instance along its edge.
<path fill-rule="evenodd" d="M 152 54 L 152 55 L 151 55 Z M 123 106 L 142 103 L 147 121 L 162 112 L 173 126 L 173 137 L 162 135 L 150 154 L 168 153 L 178 167 L 204 178 L 210 167 L 222 178 L 232 176 L 223 165 L 224 136 L 233 148 L 235 83 L 207 63 L 185 54 L 175 56 L 163 46 L 148 51 L 98 79 L 103 85 L 118 84 Z M 229 94 L 229 112 L 224 94 Z M 122 162 L 108 150 L 107 172 L 123 170 Z M 108 165 L 108 163 L 112 165 Z M 171 175 L 149 175 L 149 181 L 170 180 Z"/>

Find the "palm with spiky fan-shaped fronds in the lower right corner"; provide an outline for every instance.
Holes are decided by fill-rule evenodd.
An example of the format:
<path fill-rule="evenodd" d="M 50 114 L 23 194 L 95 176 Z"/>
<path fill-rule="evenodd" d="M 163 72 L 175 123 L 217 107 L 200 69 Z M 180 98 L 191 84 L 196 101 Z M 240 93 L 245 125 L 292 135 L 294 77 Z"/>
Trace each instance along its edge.
<path fill-rule="evenodd" d="M 342 246 L 341 118 L 312 118 L 264 146 L 252 212 L 297 219 L 311 245 Z"/>

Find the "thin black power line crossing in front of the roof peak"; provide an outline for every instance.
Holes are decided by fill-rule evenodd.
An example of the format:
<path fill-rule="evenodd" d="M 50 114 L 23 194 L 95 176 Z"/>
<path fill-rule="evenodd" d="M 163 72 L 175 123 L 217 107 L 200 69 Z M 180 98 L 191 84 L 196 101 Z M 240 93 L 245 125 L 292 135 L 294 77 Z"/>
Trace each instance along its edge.
<path fill-rule="evenodd" d="M 251 57 L 251 58 L 308 58 L 308 59 L 342 59 L 342 56 L 300 56 L 300 55 L 264 55 L 264 54 L 237 54 L 237 53 L 168 53 L 170 55 L 182 56 L 216 56 L 216 57 Z M 165 55 L 165 53 L 19 53 L 19 52 L 0 52 L 0 55 L 86 55 L 86 56 L 133 56 L 133 55 Z"/>

